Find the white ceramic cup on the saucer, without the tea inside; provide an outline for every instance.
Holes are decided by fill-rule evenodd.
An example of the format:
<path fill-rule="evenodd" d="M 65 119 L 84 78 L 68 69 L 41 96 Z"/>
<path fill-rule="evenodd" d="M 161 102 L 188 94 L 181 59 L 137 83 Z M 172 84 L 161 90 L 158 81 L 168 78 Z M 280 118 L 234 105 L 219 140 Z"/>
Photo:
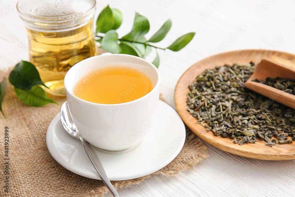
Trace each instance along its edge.
<path fill-rule="evenodd" d="M 79 91 L 79 88 L 74 90 L 78 81 L 89 72 L 106 66 L 127 66 L 142 71 L 150 78 L 153 89 L 139 99 L 119 104 L 98 104 L 74 95 L 74 91 Z M 91 79 L 89 77 L 89 83 Z M 128 149 L 147 135 L 159 101 L 159 83 L 160 73 L 153 64 L 125 54 L 87 58 L 75 64 L 64 79 L 68 106 L 78 131 L 90 144 L 109 151 Z M 86 81 L 84 85 L 87 85 Z"/>

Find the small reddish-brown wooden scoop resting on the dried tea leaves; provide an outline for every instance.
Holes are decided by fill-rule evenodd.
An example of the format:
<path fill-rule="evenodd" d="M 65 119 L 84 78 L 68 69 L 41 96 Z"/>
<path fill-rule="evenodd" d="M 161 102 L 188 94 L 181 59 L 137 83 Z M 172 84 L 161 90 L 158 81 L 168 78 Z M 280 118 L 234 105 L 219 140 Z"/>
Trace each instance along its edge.
<path fill-rule="evenodd" d="M 252 81 L 254 79 L 264 81 L 267 77 L 287 78 L 292 83 L 295 82 L 295 69 L 284 66 L 268 58 L 263 59 L 260 64 L 258 64 L 253 75 L 244 84 L 245 87 L 261 95 L 295 109 L 295 95 Z M 270 102 L 271 101 L 272 100 L 270 100 Z"/>

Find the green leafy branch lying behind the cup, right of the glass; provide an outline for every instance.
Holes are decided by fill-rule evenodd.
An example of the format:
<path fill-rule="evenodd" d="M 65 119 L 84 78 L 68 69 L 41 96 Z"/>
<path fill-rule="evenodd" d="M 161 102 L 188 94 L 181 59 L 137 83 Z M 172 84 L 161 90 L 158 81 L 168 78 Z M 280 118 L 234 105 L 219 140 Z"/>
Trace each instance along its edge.
<path fill-rule="evenodd" d="M 158 43 L 165 38 L 172 25 L 170 19 L 168 19 L 148 40 L 145 38 L 145 34 L 150 30 L 150 23 L 146 17 L 135 13 L 131 31 L 122 38 L 118 38 L 118 34 L 115 30 L 121 26 L 122 20 L 123 15 L 118 9 L 111 9 L 109 6 L 106 6 L 106 8 L 102 10 L 96 21 L 96 41 L 101 44 L 100 48 L 111 53 L 123 53 L 141 58 L 145 58 L 154 48 L 156 50 L 156 57 L 153 64 L 157 68 L 160 64 L 160 57 L 157 49 L 179 51 L 185 47 L 195 35 L 195 32 L 187 33 L 176 39 L 167 48 L 161 48 L 152 43 Z"/>

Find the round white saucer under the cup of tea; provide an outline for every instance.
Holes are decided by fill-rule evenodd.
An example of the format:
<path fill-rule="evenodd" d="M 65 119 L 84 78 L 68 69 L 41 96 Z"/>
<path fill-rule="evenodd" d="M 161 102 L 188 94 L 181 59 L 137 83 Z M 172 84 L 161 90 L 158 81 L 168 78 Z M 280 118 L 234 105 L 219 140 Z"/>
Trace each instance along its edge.
<path fill-rule="evenodd" d="M 155 112 L 157 121 L 150 133 L 130 152 L 108 154 L 95 148 L 110 180 L 128 180 L 149 175 L 168 165 L 181 151 L 186 131 L 178 113 L 160 101 Z M 60 123 L 59 113 L 46 134 L 50 154 L 63 167 L 78 175 L 100 180 L 81 142 L 69 136 Z"/>

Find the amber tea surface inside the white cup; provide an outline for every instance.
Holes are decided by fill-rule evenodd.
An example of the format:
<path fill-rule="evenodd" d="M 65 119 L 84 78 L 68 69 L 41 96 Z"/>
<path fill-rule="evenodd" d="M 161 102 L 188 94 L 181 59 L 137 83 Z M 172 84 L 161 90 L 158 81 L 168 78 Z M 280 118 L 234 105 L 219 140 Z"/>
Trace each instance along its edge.
<path fill-rule="evenodd" d="M 136 100 L 152 90 L 150 78 L 126 66 L 91 71 L 76 83 L 74 95 L 94 103 L 118 104 Z"/>

